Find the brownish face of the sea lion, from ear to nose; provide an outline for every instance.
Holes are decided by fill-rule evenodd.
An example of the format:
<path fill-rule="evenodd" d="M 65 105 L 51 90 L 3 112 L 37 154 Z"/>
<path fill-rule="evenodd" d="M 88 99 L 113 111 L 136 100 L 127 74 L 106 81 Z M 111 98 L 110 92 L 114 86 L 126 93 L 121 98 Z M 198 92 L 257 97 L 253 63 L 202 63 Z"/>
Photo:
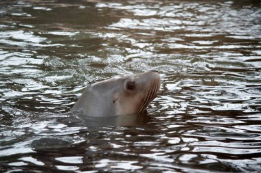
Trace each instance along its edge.
<path fill-rule="evenodd" d="M 160 87 L 159 72 L 150 70 L 139 75 L 123 76 L 122 87 L 115 92 L 115 114 L 141 114 L 157 96 Z"/>

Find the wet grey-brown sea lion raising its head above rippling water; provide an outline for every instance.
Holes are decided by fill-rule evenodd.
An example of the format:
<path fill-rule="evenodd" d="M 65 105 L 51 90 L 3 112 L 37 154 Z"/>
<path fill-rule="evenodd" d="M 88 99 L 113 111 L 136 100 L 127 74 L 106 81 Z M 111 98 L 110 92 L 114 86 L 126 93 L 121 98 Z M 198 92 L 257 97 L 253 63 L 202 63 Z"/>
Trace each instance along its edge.
<path fill-rule="evenodd" d="M 119 75 L 87 87 L 71 111 L 94 117 L 140 114 L 157 96 L 159 87 L 157 70 Z"/>

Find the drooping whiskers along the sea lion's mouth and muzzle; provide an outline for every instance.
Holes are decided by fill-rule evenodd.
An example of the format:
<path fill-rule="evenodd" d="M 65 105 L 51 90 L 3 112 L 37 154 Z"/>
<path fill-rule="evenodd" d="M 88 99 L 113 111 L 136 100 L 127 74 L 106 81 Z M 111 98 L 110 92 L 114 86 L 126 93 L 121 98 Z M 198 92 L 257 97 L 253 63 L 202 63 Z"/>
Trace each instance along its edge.
<path fill-rule="evenodd" d="M 155 79 L 154 81 L 152 81 L 152 83 L 146 90 L 146 94 L 144 96 L 144 99 L 141 102 L 141 105 L 139 106 L 138 114 L 141 114 L 142 111 L 144 111 L 146 109 L 146 107 L 148 107 L 150 102 L 153 101 L 153 99 L 157 96 L 158 91 L 159 91 L 159 86 L 160 86 L 159 79 Z"/>

